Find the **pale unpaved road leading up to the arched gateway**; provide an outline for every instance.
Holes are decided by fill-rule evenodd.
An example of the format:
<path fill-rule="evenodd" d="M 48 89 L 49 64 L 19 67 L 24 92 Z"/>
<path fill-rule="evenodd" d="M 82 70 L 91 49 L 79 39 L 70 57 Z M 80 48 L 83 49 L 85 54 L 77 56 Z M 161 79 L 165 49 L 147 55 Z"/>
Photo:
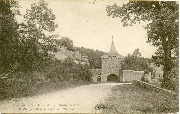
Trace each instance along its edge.
<path fill-rule="evenodd" d="M 26 97 L 0 103 L 4 113 L 97 113 L 95 106 L 111 92 L 111 88 L 122 83 L 100 83 L 83 85 L 44 95 Z"/>

